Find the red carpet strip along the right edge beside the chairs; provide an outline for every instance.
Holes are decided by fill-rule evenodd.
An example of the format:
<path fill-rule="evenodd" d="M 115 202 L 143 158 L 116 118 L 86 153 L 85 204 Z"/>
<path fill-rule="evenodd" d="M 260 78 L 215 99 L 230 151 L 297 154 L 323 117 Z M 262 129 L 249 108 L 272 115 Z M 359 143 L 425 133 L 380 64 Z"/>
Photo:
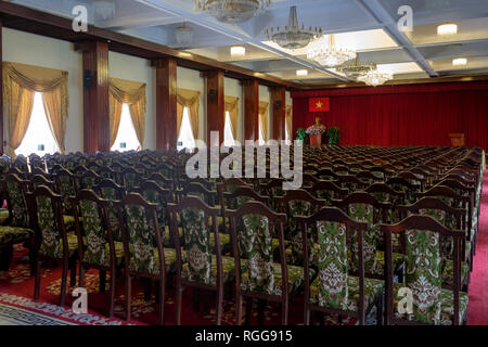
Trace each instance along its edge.
<path fill-rule="evenodd" d="M 478 242 L 470 283 L 470 325 L 488 324 L 488 170 L 483 175 L 481 214 L 479 216 Z"/>

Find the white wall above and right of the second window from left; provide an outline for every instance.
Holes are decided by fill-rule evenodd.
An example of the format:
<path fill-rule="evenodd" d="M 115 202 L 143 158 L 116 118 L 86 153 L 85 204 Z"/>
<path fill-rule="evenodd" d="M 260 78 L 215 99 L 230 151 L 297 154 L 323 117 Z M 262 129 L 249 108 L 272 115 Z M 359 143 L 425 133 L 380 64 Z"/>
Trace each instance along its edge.
<path fill-rule="evenodd" d="M 149 61 L 137 56 L 108 52 L 108 76 L 146 83 L 145 134 L 142 147 L 156 149 L 156 72 Z"/>

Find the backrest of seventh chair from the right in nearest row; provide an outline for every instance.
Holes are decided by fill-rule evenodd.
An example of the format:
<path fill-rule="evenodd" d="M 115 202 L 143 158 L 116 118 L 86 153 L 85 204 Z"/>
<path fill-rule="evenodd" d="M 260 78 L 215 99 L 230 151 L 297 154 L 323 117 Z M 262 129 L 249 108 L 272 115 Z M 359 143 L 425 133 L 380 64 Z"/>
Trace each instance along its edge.
<path fill-rule="evenodd" d="M 69 246 L 63 220 L 62 195 L 55 194 L 46 185 L 27 193 L 34 211 L 30 214 L 38 234 L 36 240 L 39 254 L 51 258 L 67 258 Z"/>

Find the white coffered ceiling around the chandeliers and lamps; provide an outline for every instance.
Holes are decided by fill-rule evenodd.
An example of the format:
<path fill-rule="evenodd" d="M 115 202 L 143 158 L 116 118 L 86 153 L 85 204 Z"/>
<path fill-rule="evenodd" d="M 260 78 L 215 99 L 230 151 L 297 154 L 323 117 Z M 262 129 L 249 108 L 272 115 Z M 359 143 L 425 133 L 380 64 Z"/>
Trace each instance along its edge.
<path fill-rule="evenodd" d="M 89 22 L 99 27 L 304 85 L 349 80 L 307 60 L 306 50 L 286 51 L 268 41 L 266 28 L 286 25 L 291 5 L 297 7 L 299 23 L 335 34 L 337 46 L 355 49 L 360 61 L 377 63 L 395 79 L 488 73 L 488 0 L 272 0 L 268 11 L 241 25 L 196 12 L 193 0 L 116 0 L 115 17 L 108 21 L 93 20 L 92 0 L 11 2 L 66 17 L 84 4 Z M 401 5 L 413 10 L 411 33 L 397 28 Z M 457 35 L 437 36 L 437 26 L 446 22 L 458 24 Z M 183 23 L 193 28 L 193 43 L 181 48 L 175 29 Z M 246 55 L 233 59 L 232 46 L 244 46 Z M 453 66 L 457 57 L 467 59 L 467 65 Z M 298 69 L 308 76 L 297 77 Z"/>

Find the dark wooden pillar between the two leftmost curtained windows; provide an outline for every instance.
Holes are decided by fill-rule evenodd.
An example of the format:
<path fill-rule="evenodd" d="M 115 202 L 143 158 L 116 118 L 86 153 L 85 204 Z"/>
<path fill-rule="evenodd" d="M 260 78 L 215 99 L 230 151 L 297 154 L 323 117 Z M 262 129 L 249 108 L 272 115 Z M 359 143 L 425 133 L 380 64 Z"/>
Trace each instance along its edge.
<path fill-rule="evenodd" d="M 77 43 L 84 54 L 84 149 L 86 153 L 108 152 L 108 43 Z"/>

